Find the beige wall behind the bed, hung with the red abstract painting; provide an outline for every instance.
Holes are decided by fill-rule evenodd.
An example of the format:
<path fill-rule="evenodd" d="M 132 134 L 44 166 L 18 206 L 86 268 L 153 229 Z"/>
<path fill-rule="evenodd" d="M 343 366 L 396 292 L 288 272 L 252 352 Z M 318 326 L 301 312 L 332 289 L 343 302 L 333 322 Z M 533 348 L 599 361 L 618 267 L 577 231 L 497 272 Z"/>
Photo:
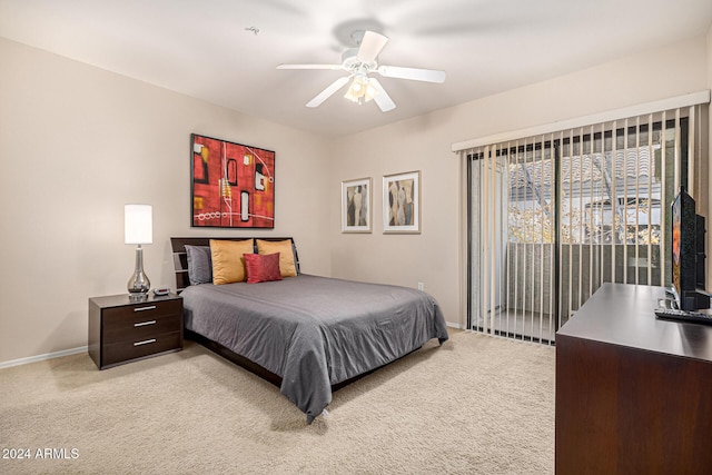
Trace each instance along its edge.
<path fill-rule="evenodd" d="M 276 229 L 328 275 L 318 137 L 0 39 L 0 363 L 87 345 L 87 299 L 122 294 L 123 205 L 154 206 L 145 269 L 175 287 L 170 236 L 190 228 L 190 133 L 276 151 Z M 255 231 L 241 234 L 256 235 Z"/>

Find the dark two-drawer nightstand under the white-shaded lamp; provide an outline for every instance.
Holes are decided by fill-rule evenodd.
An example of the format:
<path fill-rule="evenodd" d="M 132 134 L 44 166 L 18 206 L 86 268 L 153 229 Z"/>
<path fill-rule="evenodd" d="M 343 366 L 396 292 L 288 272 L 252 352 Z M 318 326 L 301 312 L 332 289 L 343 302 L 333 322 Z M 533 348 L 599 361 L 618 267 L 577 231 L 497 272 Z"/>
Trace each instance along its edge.
<path fill-rule="evenodd" d="M 89 355 L 99 369 L 182 349 L 182 298 L 149 294 L 89 299 Z"/>

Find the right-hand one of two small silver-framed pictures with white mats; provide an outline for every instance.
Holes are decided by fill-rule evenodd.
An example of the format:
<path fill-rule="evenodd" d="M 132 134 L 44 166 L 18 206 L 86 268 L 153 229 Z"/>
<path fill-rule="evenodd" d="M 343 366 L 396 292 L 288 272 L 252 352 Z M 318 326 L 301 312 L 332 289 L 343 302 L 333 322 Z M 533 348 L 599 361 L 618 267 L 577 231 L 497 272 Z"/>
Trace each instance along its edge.
<path fill-rule="evenodd" d="M 421 171 L 383 177 L 383 231 L 421 232 Z"/>

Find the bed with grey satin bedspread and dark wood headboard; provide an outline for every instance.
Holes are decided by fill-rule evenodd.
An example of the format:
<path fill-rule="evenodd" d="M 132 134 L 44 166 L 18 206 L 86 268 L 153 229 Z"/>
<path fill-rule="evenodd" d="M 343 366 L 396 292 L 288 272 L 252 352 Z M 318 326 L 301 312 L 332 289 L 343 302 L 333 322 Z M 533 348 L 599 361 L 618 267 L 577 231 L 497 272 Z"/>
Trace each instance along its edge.
<path fill-rule="evenodd" d="M 326 409 L 334 390 L 432 338 L 441 345 L 448 338 L 442 310 L 429 295 L 305 275 L 291 238 L 214 238 L 251 243 L 256 254 L 257 245 L 280 246 L 278 267 L 285 274 L 284 259 L 290 261 L 290 277 L 220 285 L 198 279 L 195 285 L 197 259 L 190 255 L 196 248 L 210 249 L 210 239 L 171 238 L 186 336 L 277 385 L 309 424 Z M 249 275 L 250 263 L 246 265 Z"/>

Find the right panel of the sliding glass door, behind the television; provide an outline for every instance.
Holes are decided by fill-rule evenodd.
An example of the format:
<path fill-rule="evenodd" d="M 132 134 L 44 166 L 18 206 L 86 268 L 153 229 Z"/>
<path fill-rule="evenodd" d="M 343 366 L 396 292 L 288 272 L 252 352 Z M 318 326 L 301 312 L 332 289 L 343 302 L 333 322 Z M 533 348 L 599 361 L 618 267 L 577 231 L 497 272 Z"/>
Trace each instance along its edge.
<path fill-rule="evenodd" d="M 669 204 L 686 125 L 627 120 L 558 140 L 560 325 L 603 283 L 670 285 Z"/>

